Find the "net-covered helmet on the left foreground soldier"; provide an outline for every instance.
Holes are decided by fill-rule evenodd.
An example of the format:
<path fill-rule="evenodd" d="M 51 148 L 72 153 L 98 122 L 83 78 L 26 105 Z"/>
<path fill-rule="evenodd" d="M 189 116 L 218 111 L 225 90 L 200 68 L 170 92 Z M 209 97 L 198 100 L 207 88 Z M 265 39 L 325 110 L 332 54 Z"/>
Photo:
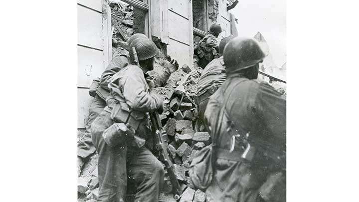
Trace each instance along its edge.
<path fill-rule="evenodd" d="M 135 47 L 137 57 L 140 61 L 155 57 L 160 51 L 152 40 L 143 37 L 139 37 L 133 40 L 129 47 L 131 61 L 134 61 L 132 47 Z"/>

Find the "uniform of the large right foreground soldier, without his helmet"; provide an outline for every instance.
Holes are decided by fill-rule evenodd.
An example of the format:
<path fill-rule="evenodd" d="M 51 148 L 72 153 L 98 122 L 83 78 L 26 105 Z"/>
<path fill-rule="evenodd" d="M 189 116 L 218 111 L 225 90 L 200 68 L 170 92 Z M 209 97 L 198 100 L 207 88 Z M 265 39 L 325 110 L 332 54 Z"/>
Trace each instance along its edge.
<path fill-rule="evenodd" d="M 260 187 L 281 168 L 260 152 L 253 162 L 244 161 L 241 155 L 246 145 L 242 138 L 248 133 L 249 137 L 285 150 L 285 98 L 266 82 L 232 72 L 210 97 L 204 116 L 215 151 L 213 180 L 206 190 L 208 198 L 215 202 L 263 200 L 259 197 Z M 285 191 L 283 198 L 285 201 Z"/>

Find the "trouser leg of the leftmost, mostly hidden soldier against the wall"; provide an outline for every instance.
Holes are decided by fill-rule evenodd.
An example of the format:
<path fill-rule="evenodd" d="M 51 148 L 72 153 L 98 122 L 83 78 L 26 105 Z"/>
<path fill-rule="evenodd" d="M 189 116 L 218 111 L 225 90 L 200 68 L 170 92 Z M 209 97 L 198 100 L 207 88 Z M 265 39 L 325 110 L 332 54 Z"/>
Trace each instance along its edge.
<path fill-rule="evenodd" d="M 91 141 L 91 124 L 105 108 L 106 102 L 98 95 L 95 96 L 89 107 L 89 116 L 85 123 L 85 135 L 77 145 L 77 156 L 85 159 L 95 153 L 96 149 Z"/>

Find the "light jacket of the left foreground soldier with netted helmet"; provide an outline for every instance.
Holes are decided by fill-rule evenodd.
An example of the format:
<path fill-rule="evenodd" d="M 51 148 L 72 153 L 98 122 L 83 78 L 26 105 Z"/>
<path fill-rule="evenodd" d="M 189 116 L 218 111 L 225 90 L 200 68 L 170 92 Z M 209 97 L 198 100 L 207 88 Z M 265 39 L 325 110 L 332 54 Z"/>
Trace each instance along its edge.
<path fill-rule="evenodd" d="M 108 87 L 111 93 L 106 99 L 108 108 L 105 110 L 111 113 L 111 118 L 115 122 L 129 123 L 137 133 L 145 133 L 146 112 L 162 107 L 162 100 L 149 93 L 142 69 L 127 65 L 112 76 Z"/>

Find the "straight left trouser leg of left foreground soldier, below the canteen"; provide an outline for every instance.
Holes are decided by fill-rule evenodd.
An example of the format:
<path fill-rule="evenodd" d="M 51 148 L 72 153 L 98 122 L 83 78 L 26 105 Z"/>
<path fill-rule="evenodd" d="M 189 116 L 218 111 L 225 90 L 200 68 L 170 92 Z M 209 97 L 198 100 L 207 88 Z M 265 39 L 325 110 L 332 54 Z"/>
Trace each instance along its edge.
<path fill-rule="evenodd" d="M 91 124 L 92 142 L 97 149 L 99 197 L 98 202 L 123 202 L 126 197 L 127 147 L 109 147 L 102 137 L 103 131 L 113 124 L 110 113 L 102 111 Z"/>

